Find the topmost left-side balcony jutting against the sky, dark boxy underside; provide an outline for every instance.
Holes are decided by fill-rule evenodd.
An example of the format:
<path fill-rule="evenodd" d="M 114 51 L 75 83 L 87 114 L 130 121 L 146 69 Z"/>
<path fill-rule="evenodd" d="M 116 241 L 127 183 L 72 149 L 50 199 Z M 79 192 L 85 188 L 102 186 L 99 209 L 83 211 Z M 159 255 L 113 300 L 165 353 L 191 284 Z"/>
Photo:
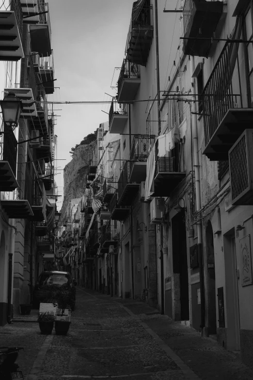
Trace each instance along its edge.
<path fill-rule="evenodd" d="M 29 25 L 31 37 L 31 50 L 38 52 L 40 57 L 47 57 L 51 53 L 51 25 L 48 3 L 38 2 L 39 23 Z"/>

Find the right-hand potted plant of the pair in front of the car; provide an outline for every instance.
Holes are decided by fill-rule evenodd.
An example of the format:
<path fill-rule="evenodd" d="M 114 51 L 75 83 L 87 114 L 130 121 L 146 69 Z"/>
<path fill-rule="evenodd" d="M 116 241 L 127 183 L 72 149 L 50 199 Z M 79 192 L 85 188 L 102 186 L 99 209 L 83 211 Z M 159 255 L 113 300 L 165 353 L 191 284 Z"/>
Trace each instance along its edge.
<path fill-rule="evenodd" d="M 55 294 L 53 304 L 57 307 L 55 333 L 56 335 L 66 335 L 70 326 L 70 316 L 65 314 L 65 311 L 71 309 L 70 295 L 59 290 Z"/>

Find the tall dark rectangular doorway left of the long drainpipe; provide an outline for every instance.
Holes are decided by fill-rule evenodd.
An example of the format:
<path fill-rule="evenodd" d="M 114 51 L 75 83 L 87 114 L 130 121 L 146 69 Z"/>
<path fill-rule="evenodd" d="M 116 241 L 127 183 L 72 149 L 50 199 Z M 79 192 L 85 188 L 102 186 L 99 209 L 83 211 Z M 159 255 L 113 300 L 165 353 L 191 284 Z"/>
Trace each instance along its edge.
<path fill-rule="evenodd" d="M 188 264 L 187 264 L 187 245 L 186 245 L 186 226 L 185 214 L 178 212 L 172 218 L 172 250 L 173 250 L 173 272 L 174 284 L 178 282 L 180 288 L 180 308 L 181 312 L 176 319 L 189 320 L 189 289 L 188 289 Z M 179 281 L 175 281 L 178 275 Z M 174 292 L 179 289 L 174 289 Z M 176 300 L 174 300 L 176 302 Z M 174 305 L 175 310 L 178 308 Z"/>

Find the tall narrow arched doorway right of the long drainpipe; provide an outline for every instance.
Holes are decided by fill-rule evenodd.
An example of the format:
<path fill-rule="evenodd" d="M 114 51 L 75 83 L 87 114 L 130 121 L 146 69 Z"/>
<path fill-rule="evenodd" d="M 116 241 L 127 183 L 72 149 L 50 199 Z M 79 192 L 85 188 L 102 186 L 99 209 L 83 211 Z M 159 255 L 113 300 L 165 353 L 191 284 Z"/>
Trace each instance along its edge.
<path fill-rule="evenodd" d="M 216 290 L 213 228 L 210 221 L 206 226 L 206 280 L 207 280 L 207 333 L 216 334 Z"/>

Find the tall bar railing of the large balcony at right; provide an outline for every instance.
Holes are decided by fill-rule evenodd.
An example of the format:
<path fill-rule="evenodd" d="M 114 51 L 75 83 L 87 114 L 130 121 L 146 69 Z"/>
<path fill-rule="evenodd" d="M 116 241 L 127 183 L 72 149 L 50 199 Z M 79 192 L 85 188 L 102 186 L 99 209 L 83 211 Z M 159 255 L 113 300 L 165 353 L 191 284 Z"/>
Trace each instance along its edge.
<path fill-rule="evenodd" d="M 205 142 L 208 144 L 230 108 L 248 107 L 243 43 L 226 42 L 202 93 Z M 244 79 L 244 83 L 241 80 Z M 244 91 L 242 91 L 242 89 Z"/>

